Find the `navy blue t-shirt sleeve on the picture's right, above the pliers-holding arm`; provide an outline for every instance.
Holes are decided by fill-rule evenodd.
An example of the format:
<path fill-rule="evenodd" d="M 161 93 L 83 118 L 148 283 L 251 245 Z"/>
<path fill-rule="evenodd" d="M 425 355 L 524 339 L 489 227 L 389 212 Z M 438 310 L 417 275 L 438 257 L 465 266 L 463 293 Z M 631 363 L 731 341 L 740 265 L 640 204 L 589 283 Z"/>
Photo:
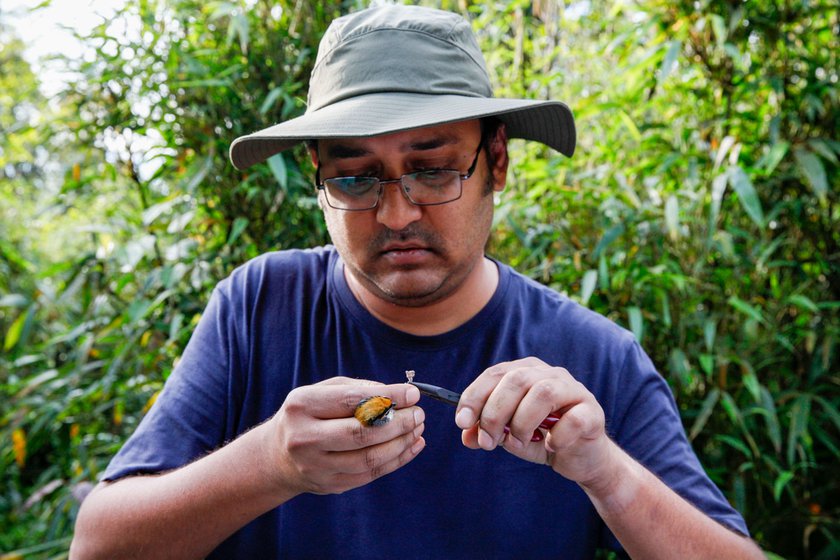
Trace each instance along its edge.
<path fill-rule="evenodd" d="M 634 388 L 621 399 L 607 431 L 618 445 L 677 494 L 711 518 L 748 535 L 743 518 L 703 470 L 685 434 L 668 384 L 637 343 L 629 346 L 620 386 Z"/>

